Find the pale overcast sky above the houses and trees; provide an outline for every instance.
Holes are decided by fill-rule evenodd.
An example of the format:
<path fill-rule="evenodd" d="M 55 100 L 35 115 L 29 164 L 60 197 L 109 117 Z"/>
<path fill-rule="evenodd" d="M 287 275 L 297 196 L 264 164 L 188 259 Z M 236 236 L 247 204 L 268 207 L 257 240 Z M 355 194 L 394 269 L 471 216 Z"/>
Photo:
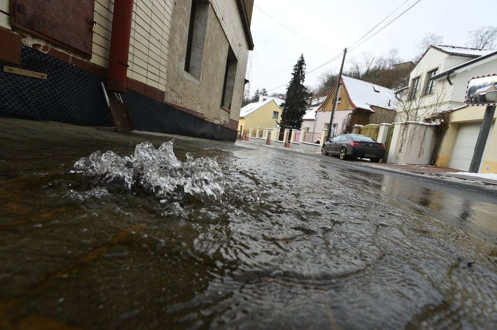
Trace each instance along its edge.
<path fill-rule="evenodd" d="M 445 45 L 465 46 L 468 31 L 494 24 L 493 15 L 487 13 L 495 12 L 496 9 L 477 8 L 488 8 L 490 4 L 497 7 L 497 1 L 494 0 L 417 2 L 418 0 L 255 0 L 251 23 L 255 48 L 249 57 L 246 74 L 250 80 L 251 95 L 257 88 L 271 90 L 269 94 L 285 93 L 293 66 L 300 54 L 304 55 L 306 71 L 309 72 L 337 57 L 345 47 L 350 49 L 346 67 L 347 59 L 354 55 L 360 57 L 363 51 L 386 55 L 389 49 L 397 48 L 403 60 L 411 60 L 418 52 L 417 44 L 428 33 L 443 36 Z M 413 5 L 374 37 L 357 46 Z M 399 9 L 395 11 L 397 8 Z M 368 36 L 351 47 L 390 14 Z M 332 70 L 338 73 L 340 61 L 341 56 L 322 68 L 307 73 L 304 84 L 316 86 L 323 72 Z"/>

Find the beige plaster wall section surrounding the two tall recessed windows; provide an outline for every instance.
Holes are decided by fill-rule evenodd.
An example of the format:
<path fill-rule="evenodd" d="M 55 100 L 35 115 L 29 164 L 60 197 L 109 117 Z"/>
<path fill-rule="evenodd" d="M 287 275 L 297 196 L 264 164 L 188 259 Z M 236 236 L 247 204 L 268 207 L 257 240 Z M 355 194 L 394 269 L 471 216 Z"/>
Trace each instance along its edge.
<path fill-rule="evenodd" d="M 190 2 L 176 2 L 171 27 L 171 55 L 167 68 L 166 101 L 201 112 L 207 120 L 238 120 L 243 97 L 248 45 L 235 0 L 212 0 L 200 79 L 184 71 Z M 231 109 L 221 108 L 229 46 L 237 58 Z"/>

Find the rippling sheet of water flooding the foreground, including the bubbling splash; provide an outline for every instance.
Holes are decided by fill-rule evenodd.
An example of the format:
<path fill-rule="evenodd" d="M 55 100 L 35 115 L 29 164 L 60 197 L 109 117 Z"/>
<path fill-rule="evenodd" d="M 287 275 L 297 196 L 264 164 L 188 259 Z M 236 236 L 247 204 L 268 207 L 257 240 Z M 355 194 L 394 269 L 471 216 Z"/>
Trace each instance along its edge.
<path fill-rule="evenodd" d="M 183 159 L 172 144 L 145 143 L 133 155 L 94 153 L 63 175 L 2 179 L 0 319 L 87 328 L 497 323 L 497 254 L 462 230 L 267 149 Z"/>

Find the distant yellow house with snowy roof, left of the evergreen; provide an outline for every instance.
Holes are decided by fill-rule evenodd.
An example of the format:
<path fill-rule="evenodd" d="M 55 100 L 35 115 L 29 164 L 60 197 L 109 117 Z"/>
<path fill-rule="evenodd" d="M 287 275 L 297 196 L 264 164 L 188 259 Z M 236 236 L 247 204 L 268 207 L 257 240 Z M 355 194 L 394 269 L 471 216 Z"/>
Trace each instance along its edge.
<path fill-rule="evenodd" d="M 250 103 L 241 108 L 240 120 L 238 121 L 238 135 L 248 136 L 251 128 L 256 131 L 257 127 L 274 127 L 282 120 L 282 109 L 278 107 L 275 100 Z"/>

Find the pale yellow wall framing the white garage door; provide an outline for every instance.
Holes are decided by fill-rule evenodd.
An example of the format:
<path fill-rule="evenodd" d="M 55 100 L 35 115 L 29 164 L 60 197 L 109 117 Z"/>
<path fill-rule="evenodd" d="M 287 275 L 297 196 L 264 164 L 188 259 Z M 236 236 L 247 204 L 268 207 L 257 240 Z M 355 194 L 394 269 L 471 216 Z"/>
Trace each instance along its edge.
<path fill-rule="evenodd" d="M 481 122 L 484 113 L 484 106 L 465 107 L 451 113 L 449 128 L 440 147 L 440 151 L 437 155 L 437 161 L 435 162 L 436 166 L 445 168 L 449 166 L 450 156 L 452 155 L 452 150 L 459 130 L 459 125 L 463 123 Z M 497 113 L 494 114 L 493 117 L 494 121 L 496 119 Z M 487 141 L 487 144 L 488 149 L 486 158 L 483 161 L 482 168 L 485 169 L 487 166 L 489 166 L 490 171 L 483 170 L 482 173 L 497 174 L 497 131 L 495 131 L 495 128 L 492 132 L 490 140 Z"/>

